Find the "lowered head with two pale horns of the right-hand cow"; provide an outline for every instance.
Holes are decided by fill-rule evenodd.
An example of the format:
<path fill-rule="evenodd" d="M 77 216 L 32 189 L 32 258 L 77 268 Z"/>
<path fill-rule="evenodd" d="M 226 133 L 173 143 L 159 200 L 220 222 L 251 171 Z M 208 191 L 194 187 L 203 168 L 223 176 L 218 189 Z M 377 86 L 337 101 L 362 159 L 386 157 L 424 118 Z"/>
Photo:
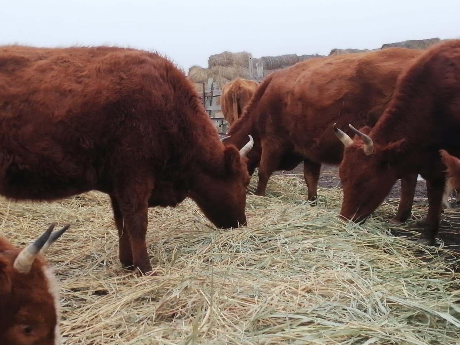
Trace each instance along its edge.
<path fill-rule="evenodd" d="M 402 141 L 387 146 L 375 145 L 364 132 L 349 125 L 356 134 L 351 139 L 334 123 L 334 133 L 345 145 L 339 166 L 344 199 L 340 216 L 353 221 L 365 220 L 379 207 L 395 184 L 398 174 L 394 157 Z"/>

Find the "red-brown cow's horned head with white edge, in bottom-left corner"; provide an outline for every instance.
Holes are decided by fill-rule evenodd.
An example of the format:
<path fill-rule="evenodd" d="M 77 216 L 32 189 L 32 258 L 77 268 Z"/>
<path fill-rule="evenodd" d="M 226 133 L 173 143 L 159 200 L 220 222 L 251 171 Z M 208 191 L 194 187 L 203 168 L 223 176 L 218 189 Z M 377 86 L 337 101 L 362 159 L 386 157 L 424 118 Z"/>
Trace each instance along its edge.
<path fill-rule="evenodd" d="M 0 237 L 0 344 L 58 345 L 59 289 L 53 269 L 43 258 L 69 224 L 55 224 L 23 250 Z"/>

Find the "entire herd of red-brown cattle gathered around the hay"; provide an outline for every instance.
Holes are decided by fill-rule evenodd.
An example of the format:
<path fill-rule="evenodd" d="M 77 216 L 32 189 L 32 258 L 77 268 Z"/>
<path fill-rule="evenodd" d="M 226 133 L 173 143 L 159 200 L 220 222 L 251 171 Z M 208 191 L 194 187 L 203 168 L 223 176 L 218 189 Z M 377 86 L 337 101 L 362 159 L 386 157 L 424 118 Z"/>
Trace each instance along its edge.
<path fill-rule="evenodd" d="M 216 227 L 238 227 L 255 168 L 264 195 L 274 171 L 303 161 L 314 204 L 321 164 L 334 164 L 340 216 L 352 221 L 366 219 L 397 179 L 392 221 L 406 221 L 420 174 L 429 208 L 418 242 L 434 244 L 443 196 L 460 190 L 460 40 L 307 60 L 249 85 L 244 97 L 226 91 L 241 92 L 237 82 L 222 92 L 233 120 L 219 140 L 190 81 L 158 54 L 1 46 L 0 195 L 107 193 L 121 264 L 153 274 L 149 207 L 190 197 Z M 42 253 L 69 225 L 53 227 L 23 250 L 0 239 L 2 344 L 60 344 L 59 294 Z"/>

